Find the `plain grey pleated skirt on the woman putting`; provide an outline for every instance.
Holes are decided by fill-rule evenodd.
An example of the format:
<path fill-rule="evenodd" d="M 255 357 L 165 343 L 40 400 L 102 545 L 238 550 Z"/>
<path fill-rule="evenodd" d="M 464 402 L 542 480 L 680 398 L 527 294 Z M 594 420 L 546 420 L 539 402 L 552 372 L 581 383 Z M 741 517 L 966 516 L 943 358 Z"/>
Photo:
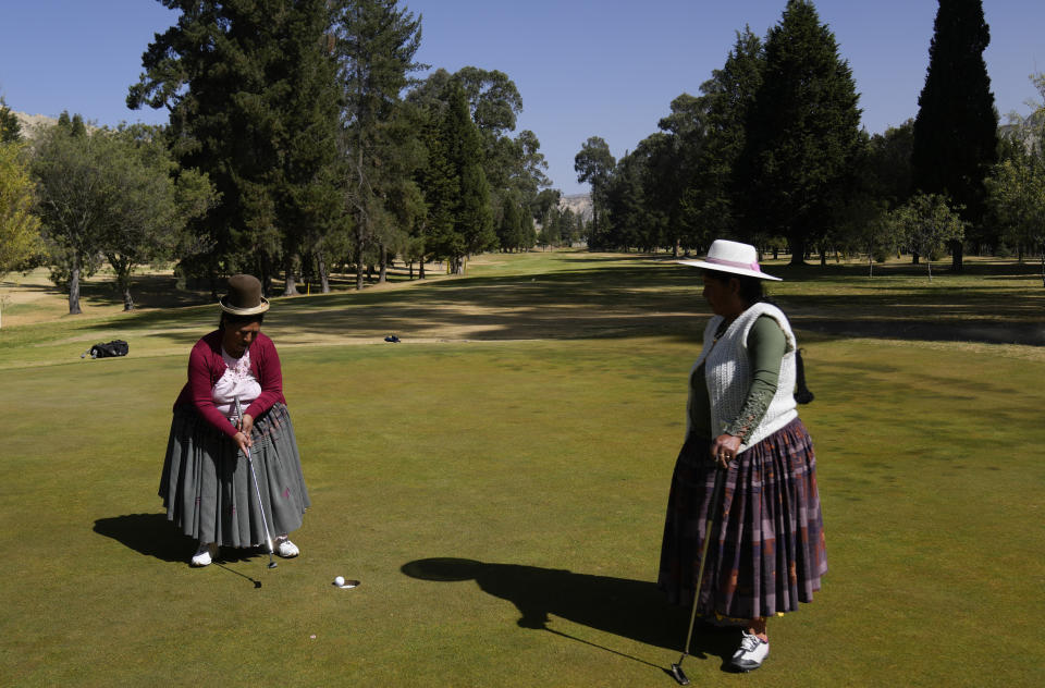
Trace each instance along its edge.
<path fill-rule="evenodd" d="M 270 535 L 297 530 L 311 502 L 286 406 L 275 404 L 256 418 L 250 437 Z M 159 494 L 168 520 L 190 538 L 231 548 L 266 541 L 247 457 L 193 406 L 174 410 Z"/>

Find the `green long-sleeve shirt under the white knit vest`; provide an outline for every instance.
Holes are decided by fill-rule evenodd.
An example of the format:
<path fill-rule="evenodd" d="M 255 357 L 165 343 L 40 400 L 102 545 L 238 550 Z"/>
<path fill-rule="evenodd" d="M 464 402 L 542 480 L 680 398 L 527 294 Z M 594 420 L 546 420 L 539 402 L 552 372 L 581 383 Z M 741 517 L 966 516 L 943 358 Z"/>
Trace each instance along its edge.
<path fill-rule="evenodd" d="M 748 435 L 759 427 L 765 409 L 770 407 L 780 377 L 780 363 L 787 352 L 787 337 L 784 330 L 770 316 L 760 316 L 748 332 L 748 356 L 751 364 L 751 388 L 740 414 L 729 420 L 725 432 L 747 441 Z M 711 401 L 708 396 L 708 381 L 704 377 L 704 364 L 700 364 L 689 380 L 692 388 L 692 401 L 689 407 L 690 434 L 700 438 L 714 438 L 718 433 L 711 428 Z"/>

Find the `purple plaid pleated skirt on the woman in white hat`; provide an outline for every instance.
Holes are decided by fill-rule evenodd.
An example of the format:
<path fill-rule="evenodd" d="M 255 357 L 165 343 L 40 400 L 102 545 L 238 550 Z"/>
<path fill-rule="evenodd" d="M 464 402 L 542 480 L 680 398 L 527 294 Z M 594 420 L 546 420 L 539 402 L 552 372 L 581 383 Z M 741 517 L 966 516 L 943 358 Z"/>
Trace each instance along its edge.
<path fill-rule="evenodd" d="M 698 585 L 716 472 L 710 446 L 690 438 L 675 464 L 657 587 L 686 605 L 699 589 L 697 610 L 709 618 L 773 616 L 812 602 L 827 556 L 806 426 L 796 418 L 729 466 Z"/>

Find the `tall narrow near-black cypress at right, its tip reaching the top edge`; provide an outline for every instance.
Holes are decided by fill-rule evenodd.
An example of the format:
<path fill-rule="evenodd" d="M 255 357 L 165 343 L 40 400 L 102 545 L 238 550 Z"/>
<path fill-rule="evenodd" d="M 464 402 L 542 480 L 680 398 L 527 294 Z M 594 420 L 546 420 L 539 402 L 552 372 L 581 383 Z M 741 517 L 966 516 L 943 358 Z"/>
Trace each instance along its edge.
<path fill-rule="evenodd" d="M 981 0 L 941 0 L 929 47 L 925 86 L 918 98 L 911 153 L 914 188 L 963 206 L 974 238 L 984 239 L 984 179 L 997 160 L 997 114 L 983 51 L 991 29 Z M 951 267 L 962 244 L 950 243 Z"/>

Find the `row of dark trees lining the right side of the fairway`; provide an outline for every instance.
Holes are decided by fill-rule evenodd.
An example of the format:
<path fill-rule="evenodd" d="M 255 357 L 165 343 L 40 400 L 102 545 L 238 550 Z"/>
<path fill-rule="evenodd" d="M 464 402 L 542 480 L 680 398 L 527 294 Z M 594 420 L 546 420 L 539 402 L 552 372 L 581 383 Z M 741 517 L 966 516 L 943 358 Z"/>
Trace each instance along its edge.
<path fill-rule="evenodd" d="M 589 243 L 678 254 L 728 237 L 786 248 L 792 263 L 815 251 L 822 262 L 831 250 L 884 260 L 902 248 L 918 262 L 946 250 L 955 271 L 966 247 L 1045 256 L 1043 230 L 1031 229 L 1042 218 L 1031 189 L 1045 195 L 1033 171 L 1043 110 L 1011 115 L 999 138 L 988 42 L 981 0 L 941 2 L 917 116 L 871 136 L 829 27 L 813 2 L 789 0 L 764 39 L 737 32 L 700 95 L 673 100 L 660 131 L 620 160 L 598 136 L 581 146 L 575 170 L 597 209 Z M 1045 97 L 1041 75 L 1035 84 Z M 947 232 L 915 236 L 944 212 Z"/>

